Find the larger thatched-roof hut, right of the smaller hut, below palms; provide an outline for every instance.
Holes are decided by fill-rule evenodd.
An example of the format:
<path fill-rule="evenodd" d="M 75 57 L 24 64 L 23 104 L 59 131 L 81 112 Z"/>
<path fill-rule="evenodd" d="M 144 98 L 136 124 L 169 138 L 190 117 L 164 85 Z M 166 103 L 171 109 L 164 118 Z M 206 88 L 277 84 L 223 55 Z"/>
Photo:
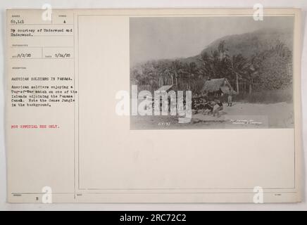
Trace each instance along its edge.
<path fill-rule="evenodd" d="M 236 91 L 232 89 L 230 82 L 226 78 L 208 79 L 201 90 L 204 93 L 216 93 L 222 91 L 223 94 L 235 94 Z"/>

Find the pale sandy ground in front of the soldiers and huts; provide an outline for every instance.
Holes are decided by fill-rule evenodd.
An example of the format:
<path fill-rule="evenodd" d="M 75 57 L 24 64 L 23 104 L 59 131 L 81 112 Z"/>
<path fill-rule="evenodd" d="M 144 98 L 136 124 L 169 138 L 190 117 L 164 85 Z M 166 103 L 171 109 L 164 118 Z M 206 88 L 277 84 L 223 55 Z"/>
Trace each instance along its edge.
<path fill-rule="evenodd" d="M 224 104 L 219 117 L 196 113 L 189 123 L 178 123 L 177 116 L 131 116 L 131 129 L 243 129 L 292 128 L 292 103 L 233 103 Z"/>

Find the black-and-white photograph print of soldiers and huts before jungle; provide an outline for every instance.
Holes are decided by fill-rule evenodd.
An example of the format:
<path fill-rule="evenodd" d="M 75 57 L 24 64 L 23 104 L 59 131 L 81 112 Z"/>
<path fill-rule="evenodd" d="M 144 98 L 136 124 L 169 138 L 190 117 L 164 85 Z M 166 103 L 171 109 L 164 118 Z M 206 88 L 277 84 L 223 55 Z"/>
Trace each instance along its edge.
<path fill-rule="evenodd" d="M 130 18 L 130 129 L 293 128 L 293 16 Z"/>

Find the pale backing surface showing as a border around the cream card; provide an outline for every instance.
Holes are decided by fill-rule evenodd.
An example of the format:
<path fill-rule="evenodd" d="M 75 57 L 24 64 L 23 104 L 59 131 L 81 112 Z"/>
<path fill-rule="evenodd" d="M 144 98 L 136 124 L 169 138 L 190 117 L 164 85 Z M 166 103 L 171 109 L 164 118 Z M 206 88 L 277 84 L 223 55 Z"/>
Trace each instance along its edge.
<path fill-rule="evenodd" d="M 253 4 L 261 3 L 264 7 L 285 8 L 297 7 L 303 9 L 303 43 L 302 43 L 302 101 L 303 101 L 303 142 L 307 142 L 307 38 L 306 30 L 306 0 L 280 0 L 280 1 L 254 1 L 254 0 L 108 0 L 108 1 L 82 1 L 82 0 L 10 0 L 1 1 L 0 23 L 0 210 L 307 210 L 305 178 L 303 187 L 303 203 L 298 204 L 8 204 L 6 203 L 6 154 L 4 143 L 4 46 L 6 29 L 6 8 L 42 8 L 44 4 L 51 4 L 53 8 L 252 8 Z M 303 153 L 304 161 L 307 160 L 306 145 Z M 305 162 L 303 168 L 306 171 Z M 303 173 L 306 176 L 306 172 Z"/>

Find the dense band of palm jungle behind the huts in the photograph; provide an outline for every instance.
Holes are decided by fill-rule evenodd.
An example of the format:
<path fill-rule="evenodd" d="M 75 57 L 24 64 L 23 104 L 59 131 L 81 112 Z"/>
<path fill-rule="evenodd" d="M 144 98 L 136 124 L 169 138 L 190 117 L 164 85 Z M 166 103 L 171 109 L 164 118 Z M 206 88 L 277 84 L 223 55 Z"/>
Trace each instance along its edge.
<path fill-rule="evenodd" d="M 285 89 L 292 84 L 292 51 L 278 43 L 272 49 L 250 58 L 231 55 L 220 41 L 210 53 L 203 51 L 197 60 L 156 60 L 131 69 L 131 82 L 150 91 L 167 84 L 177 90 L 199 94 L 207 79 L 227 78 L 237 93 Z"/>

